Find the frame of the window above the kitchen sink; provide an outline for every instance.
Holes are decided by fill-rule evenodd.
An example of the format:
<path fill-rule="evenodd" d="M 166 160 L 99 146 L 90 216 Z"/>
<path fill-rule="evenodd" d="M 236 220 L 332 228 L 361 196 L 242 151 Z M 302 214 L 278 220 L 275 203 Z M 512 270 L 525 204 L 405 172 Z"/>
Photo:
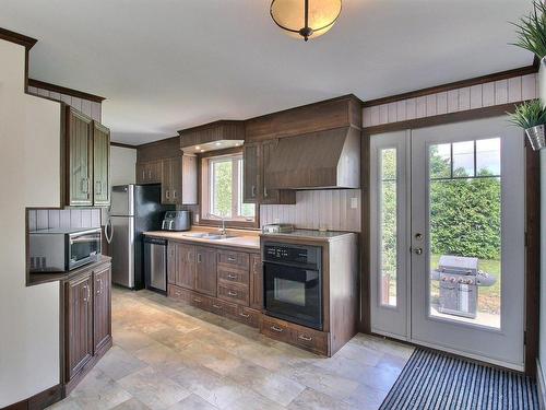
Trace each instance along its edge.
<path fill-rule="evenodd" d="M 232 157 L 232 161 L 235 160 L 236 156 L 240 156 L 241 159 L 244 157 L 242 155 L 242 148 L 232 148 L 232 149 L 226 149 L 226 150 L 218 150 L 218 151 L 211 151 L 211 152 L 205 152 L 200 155 L 198 155 L 199 159 L 199 211 L 200 211 L 200 220 L 198 225 L 205 225 L 205 226 L 219 226 L 222 222 L 217 219 L 210 219 L 207 218 L 207 214 L 210 212 L 210 197 L 211 197 L 211 162 L 214 161 L 222 161 L 222 159 L 227 159 Z M 234 198 L 241 198 L 244 199 L 244 179 L 242 175 L 239 175 L 239 171 L 241 174 L 245 172 L 245 164 L 242 163 L 240 169 L 236 165 L 237 163 L 235 162 L 235 168 L 234 168 L 234 175 L 235 178 L 233 179 L 233 196 Z M 238 184 L 239 179 L 241 181 L 241 187 L 240 190 L 238 189 Z M 238 198 L 237 200 L 232 201 L 232 212 L 237 211 L 238 206 Z M 241 202 L 242 203 L 242 202 Z M 254 204 L 256 211 L 254 211 L 254 219 L 253 221 L 248 221 L 245 220 L 244 218 L 238 218 L 238 219 L 226 219 L 225 220 L 225 225 L 226 227 L 234 227 L 234 229 L 259 229 L 260 227 L 260 206 L 258 203 Z M 237 212 L 238 213 L 238 212 Z"/>

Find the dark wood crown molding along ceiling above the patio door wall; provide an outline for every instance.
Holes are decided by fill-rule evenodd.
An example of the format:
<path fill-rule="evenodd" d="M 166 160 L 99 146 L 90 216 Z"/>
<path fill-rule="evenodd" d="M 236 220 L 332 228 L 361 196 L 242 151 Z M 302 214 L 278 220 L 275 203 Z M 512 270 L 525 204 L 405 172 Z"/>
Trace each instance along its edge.
<path fill-rule="evenodd" d="M 536 72 L 538 72 L 538 66 L 535 66 L 533 63 L 532 66 L 520 67 L 520 68 L 512 69 L 512 70 L 495 72 L 492 74 L 475 77 L 473 79 L 455 81 L 452 83 L 429 86 L 427 89 L 410 91 L 407 93 L 402 93 L 402 94 L 391 95 L 391 96 L 387 96 L 387 97 L 366 101 L 363 103 L 363 108 L 368 108 L 368 107 L 372 107 L 376 105 L 382 105 L 382 104 L 388 104 L 388 103 L 395 103 L 395 102 L 403 101 L 403 99 L 420 97 L 420 96 L 425 96 L 425 95 L 441 93 L 441 92 L 446 92 L 446 91 L 462 89 L 462 87 L 477 85 L 477 84 L 485 84 L 485 83 L 492 82 L 492 81 L 506 80 L 506 79 L 510 79 L 512 77 L 534 74 Z"/>

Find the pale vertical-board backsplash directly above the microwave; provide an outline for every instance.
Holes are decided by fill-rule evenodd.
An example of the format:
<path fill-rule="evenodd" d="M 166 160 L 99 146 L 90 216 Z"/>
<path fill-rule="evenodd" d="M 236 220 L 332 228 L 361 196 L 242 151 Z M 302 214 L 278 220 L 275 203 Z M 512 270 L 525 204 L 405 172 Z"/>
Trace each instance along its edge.
<path fill-rule="evenodd" d="M 100 209 L 29 209 L 28 232 L 48 229 L 100 227 Z"/>

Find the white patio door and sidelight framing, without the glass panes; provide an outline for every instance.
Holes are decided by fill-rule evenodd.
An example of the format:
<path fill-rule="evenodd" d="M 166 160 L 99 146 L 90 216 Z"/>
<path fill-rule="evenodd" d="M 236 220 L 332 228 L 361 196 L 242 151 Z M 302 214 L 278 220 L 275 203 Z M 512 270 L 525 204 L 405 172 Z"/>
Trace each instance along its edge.
<path fill-rule="evenodd" d="M 428 144 L 495 137 L 501 138 L 501 234 L 503 236 L 501 242 L 502 286 L 500 329 L 484 328 L 478 325 L 461 325 L 452 320 L 429 317 L 429 274 L 427 274 L 428 237 L 425 237 L 423 243 L 412 242 L 415 233 L 425 233 L 423 231 L 427 224 L 428 187 L 426 187 L 425 181 L 428 180 L 428 155 L 426 155 Z M 384 139 L 384 142 L 381 142 L 381 138 Z M 411 218 L 407 216 L 407 221 L 411 221 L 412 226 L 407 226 L 402 239 L 406 244 L 405 258 L 411 260 L 408 263 L 413 268 L 413 270 L 408 269 L 405 274 L 405 280 L 407 281 L 405 289 L 408 292 L 405 308 L 407 320 L 402 325 L 395 321 L 396 316 L 394 316 L 392 308 L 389 312 L 378 304 L 379 249 L 377 241 L 377 212 L 379 190 L 377 152 L 382 147 L 400 147 L 393 143 L 393 140 L 396 138 L 399 141 L 411 140 L 412 144 L 411 149 L 410 143 L 406 145 L 407 165 L 412 168 L 407 172 L 406 178 L 411 178 L 412 184 L 407 179 L 404 179 L 407 184 L 406 192 L 408 192 L 407 195 L 411 198 L 411 202 L 407 202 L 411 206 L 407 206 L 405 210 L 420 209 L 419 212 L 414 211 Z M 370 321 L 372 332 L 523 371 L 523 332 L 525 326 L 525 156 L 521 130 L 511 127 L 503 116 L 371 136 L 370 148 Z M 420 151 L 419 154 L 416 153 L 418 151 Z M 413 185 L 413 187 L 410 185 Z M 424 200 L 425 198 L 427 199 Z M 404 209 L 399 209 L 399 214 L 403 213 Z M 402 235 L 401 229 L 403 230 L 400 226 L 399 233 Z M 416 256 L 410 254 L 410 246 L 423 247 L 423 255 Z M 404 272 L 399 271 L 399 277 L 401 273 L 403 274 Z M 399 281 L 399 285 L 404 283 L 404 279 L 401 280 L 402 282 Z M 399 293 L 401 291 L 402 289 L 399 288 Z M 402 309 L 402 306 L 400 308 L 396 306 L 396 312 Z M 400 317 L 397 316 L 397 318 Z"/>

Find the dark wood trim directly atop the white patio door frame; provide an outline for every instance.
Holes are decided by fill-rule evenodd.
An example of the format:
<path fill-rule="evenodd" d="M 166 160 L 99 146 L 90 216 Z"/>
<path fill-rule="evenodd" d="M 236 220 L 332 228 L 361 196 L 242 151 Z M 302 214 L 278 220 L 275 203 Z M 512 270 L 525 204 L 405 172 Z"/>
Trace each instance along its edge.
<path fill-rule="evenodd" d="M 501 105 L 492 105 L 490 107 L 484 107 L 477 109 L 467 109 L 464 112 L 442 114 L 431 117 L 415 118 L 406 121 L 382 124 L 379 126 L 366 127 L 363 129 L 363 132 L 371 136 L 375 133 L 383 133 L 383 132 L 399 131 L 404 129 L 431 127 L 449 122 L 495 117 L 499 115 L 505 115 L 507 113 L 513 113 L 515 106 L 517 103 L 509 103 Z"/>

